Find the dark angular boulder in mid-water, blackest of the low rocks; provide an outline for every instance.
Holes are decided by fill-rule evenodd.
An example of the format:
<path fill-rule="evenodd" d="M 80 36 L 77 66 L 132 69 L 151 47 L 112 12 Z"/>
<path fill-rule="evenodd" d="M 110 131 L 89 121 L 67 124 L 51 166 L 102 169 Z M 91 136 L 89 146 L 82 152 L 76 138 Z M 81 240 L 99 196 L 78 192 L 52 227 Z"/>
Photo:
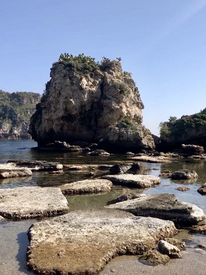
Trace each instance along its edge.
<path fill-rule="evenodd" d="M 140 170 L 140 164 L 138 162 L 135 162 L 135 163 L 120 162 L 115 164 L 109 169 L 112 175 L 116 175 L 120 173 L 136 174 L 139 170 Z"/>

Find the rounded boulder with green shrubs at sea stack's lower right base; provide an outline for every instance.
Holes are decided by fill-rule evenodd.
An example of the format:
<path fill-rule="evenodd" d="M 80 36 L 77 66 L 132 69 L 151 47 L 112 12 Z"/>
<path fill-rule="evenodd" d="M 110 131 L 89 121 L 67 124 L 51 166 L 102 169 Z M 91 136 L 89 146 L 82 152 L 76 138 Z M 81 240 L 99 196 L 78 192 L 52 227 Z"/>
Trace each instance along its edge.
<path fill-rule="evenodd" d="M 108 150 L 154 149 L 155 144 L 149 129 L 138 122 L 130 122 L 134 127 L 119 122 L 108 127 L 106 136 L 100 140 L 99 146 Z"/>

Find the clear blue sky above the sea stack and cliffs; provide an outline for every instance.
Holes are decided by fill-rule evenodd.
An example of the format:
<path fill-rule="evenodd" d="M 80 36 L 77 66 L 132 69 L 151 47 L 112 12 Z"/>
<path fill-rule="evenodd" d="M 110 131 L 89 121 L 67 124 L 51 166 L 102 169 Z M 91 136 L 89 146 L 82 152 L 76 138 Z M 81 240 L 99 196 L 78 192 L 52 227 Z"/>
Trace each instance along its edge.
<path fill-rule="evenodd" d="M 122 58 L 145 109 L 143 123 L 206 107 L 206 0 L 5 0 L 0 89 L 42 93 L 61 53 Z"/>

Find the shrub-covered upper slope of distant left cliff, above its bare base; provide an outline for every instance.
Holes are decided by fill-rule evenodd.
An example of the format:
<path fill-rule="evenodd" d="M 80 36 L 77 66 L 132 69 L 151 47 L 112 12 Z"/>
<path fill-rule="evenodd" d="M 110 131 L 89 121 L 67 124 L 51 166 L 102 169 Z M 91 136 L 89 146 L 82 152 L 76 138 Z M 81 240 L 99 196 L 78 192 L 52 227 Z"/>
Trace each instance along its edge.
<path fill-rule="evenodd" d="M 30 121 L 41 95 L 31 92 L 7 93 L 0 90 L 0 128 L 3 124 L 18 126 Z"/>

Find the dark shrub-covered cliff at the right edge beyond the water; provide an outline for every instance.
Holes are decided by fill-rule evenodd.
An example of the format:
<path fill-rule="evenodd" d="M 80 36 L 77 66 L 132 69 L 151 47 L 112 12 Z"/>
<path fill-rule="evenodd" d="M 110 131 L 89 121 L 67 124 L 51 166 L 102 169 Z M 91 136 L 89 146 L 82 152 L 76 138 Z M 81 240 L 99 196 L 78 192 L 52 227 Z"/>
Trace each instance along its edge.
<path fill-rule="evenodd" d="M 169 119 L 161 124 L 161 149 L 180 149 L 181 144 L 194 144 L 206 149 L 206 108 L 194 115 Z"/>

